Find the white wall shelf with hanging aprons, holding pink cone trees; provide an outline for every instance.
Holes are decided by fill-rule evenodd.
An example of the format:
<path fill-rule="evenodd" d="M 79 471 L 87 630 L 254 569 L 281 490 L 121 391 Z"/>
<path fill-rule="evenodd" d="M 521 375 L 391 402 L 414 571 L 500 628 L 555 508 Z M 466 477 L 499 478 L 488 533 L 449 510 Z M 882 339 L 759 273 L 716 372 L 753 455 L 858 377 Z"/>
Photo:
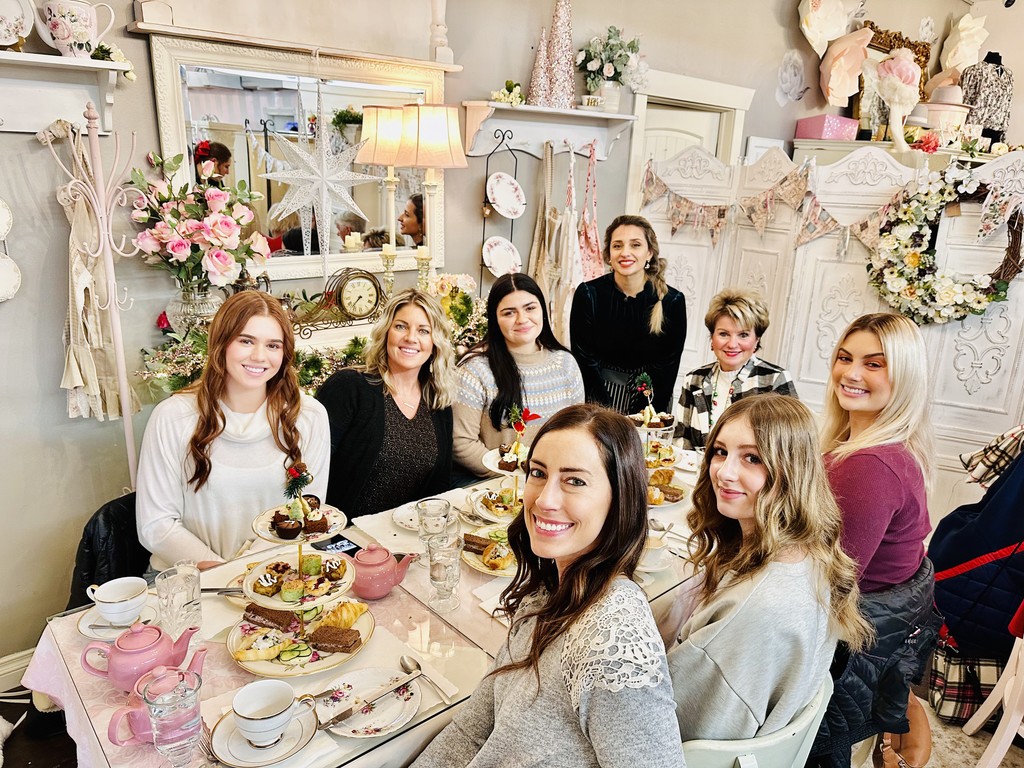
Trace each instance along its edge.
<path fill-rule="evenodd" d="M 462 105 L 466 108 L 466 154 L 471 157 L 495 148 L 496 130 L 511 130 L 511 147 L 538 158 L 544 155 L 545 141 L 554 142 L 556 153 L 567 152 L 571 144 L 575 153 L 587 155 L 596 139 L 597 159 L 607 160 L 615 141 L 636 121 L 635 115 L 510 106 L 501 101 L 463 101 Z"/>

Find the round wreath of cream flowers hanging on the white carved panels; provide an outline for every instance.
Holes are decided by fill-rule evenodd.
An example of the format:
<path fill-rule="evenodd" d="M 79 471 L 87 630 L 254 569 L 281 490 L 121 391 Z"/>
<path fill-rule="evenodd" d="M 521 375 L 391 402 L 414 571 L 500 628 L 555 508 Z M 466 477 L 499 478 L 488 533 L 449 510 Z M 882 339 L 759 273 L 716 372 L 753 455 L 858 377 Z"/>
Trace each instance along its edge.
<path fill-rule="evenodd" d="M 946 206 L 981 202 L 988 194 L 988 186 L 969 170 L 950 165 L 942 173 L 932 172 L 916 186 L 907 186 L 889 206 L 867 264 L 867 279 L 893 309 L 926 326 L 984 314 L 991 302 L 1007 300 L 1010 282 L 1021 272 L 1024 217 L 1020 211 L 1010 216 L 1006 255 L 989 274 L 965 278 L 952 269 L 939 269 L 935 263 L 938 223 Z"/>

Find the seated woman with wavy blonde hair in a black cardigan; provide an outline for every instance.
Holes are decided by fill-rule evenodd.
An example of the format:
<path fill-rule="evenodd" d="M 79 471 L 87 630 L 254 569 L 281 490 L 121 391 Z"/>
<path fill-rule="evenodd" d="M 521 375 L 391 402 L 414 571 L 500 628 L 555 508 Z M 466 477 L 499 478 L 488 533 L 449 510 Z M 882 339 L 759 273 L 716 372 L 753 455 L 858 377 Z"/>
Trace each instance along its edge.
<path fill-rule="evenodd" d="M 446 490 L 452 471 L 455 350 L 437 301 L 392 297 L 366 360 L 316 392 L 331 421 L 327 502 L 349 519 Z"/>

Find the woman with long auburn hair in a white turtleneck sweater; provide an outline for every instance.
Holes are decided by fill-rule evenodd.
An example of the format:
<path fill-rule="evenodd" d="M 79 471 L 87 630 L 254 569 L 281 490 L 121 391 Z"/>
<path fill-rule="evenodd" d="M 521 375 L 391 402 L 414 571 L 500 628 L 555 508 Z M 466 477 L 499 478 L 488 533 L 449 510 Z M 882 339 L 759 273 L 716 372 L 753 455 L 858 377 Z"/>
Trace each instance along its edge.
<path fill-rule="evenodd" d="M 288 469 L 305 463 L 306 493 L 327 493 L 327 412 L 299 390 L 295 337 L 273 296 L 244 291 L 210 326 L 199 381 L 150 417 L 139 457 L 138 538 L 160 570 L 230 559 L 252 539 L 253 518 L 285 501 Z"/>

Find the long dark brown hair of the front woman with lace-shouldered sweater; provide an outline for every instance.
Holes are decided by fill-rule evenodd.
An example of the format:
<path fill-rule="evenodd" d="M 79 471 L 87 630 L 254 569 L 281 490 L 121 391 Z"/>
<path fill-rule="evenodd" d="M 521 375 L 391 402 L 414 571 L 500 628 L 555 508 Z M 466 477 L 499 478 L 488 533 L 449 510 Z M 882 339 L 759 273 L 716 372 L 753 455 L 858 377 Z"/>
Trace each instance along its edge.
<path fill-rule="evenodd" d="M 524 510 L 509 524 L 509 546 L 519 565 L 512 584 L 502 593 L 505 612 L 511 617 L 523 600 L 542 589 L 549 597 L 544 605 L 519 616 L 519 625 L 537 616 L 534 642 L 526 658 L 495 670 L 492 674 L 531 668 L 545 649 L 596 603 L 618 575 L 633 577 L 647 538 L 647 470 L 643 446 L 636 428 L 621 414 L 593 403 L 562 409 L 541 427 L 529 456 L 550 432 L 579 429 L 597 444 L 604 471 L 611 483 L 611 505 L 596 547 L 580 555 L 558 578 L 554 560 L 538 557 L 529 544 Z M 526 464 L 529 473 L 529 462 Z M 511 633 L 510 633 L 511 636 Z"/>

